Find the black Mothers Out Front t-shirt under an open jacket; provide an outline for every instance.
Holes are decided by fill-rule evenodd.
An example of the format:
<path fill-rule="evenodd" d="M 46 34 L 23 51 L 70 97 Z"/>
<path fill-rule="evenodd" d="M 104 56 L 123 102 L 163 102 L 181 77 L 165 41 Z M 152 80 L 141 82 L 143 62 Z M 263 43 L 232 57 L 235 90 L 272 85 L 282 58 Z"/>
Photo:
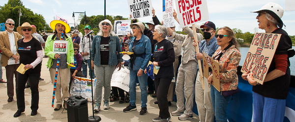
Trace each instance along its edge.
<path fill-rule="evenodd" d="M 109 65 L 109 40 L 110 37 L 101 36 L 100 40 L 100 64 L 101 65 Z"/>

